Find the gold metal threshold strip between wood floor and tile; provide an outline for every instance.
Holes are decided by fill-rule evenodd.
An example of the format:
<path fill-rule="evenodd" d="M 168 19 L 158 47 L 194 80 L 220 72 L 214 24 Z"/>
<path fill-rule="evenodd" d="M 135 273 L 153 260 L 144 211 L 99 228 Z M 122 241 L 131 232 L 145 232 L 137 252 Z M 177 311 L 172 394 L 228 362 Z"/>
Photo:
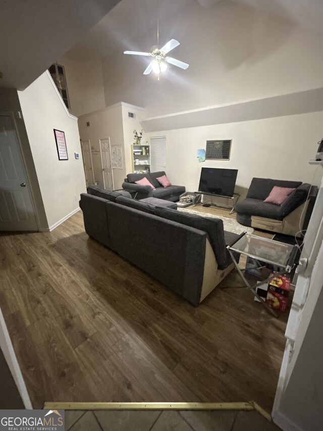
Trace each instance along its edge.
<path fill-rule="evenodd" d="M 64 410 L 254 410 L 251 403 L 53 403 L 44 409 Z"/>

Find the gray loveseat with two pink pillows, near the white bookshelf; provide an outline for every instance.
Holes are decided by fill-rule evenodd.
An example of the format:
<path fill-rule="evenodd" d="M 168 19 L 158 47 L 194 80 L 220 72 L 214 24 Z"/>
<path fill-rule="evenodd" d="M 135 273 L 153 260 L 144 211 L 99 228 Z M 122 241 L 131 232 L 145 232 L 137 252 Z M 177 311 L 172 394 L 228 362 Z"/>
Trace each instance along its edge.
<path fill-rule="evenodd" d="M 185 187 L 183 185 L 170 185 L 169 187 L 163 187 L 156 179 L 163 175 L 166 175 L 164 171 L 150 172 L 146 174 L 128 174 L 127 178 L 125 178 L 125 182 L 122 184 L 122 188 L 132 193 L 134 195 L 134 199 L 137 200 L 143 198 L 157 198 L 172 202 L 179 201 L 180 195 L 185 193 Z M 140 185 L 135 183 L 135 181 L 144 177 L 147 178 L 155 187 L 154 190 L 150 185 Z"/>

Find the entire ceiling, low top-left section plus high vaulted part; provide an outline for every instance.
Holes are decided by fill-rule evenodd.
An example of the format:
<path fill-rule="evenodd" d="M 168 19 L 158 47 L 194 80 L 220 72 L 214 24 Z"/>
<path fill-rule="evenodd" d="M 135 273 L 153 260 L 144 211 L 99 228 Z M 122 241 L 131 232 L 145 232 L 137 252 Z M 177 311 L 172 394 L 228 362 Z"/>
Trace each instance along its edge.
<path fill-rule="evenodd" d="M 322 0 L 234 1 L 323 33 Z M 233 0 L 2 0 L 0 86 L 24 89 L 64 54 L 92 60 L 135 49 L 135 40 L 156 27 L 157 3 L 162 22 L 192 3 L 222 2 Z"/>

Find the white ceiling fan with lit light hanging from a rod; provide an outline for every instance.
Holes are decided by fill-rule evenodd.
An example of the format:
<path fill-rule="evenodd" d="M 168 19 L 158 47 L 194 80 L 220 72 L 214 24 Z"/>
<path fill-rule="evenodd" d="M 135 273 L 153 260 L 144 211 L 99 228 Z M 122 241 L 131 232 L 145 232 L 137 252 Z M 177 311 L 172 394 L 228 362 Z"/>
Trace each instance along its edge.
<path fill-rule="evenodd" d="M 178 42 L 175 39 L 171 39 L 169 42 L 167 42 L 163 47 L 154 48 L 151 53 L 141 53 L 137 51 L 125 51 L 124 54 L 130 54 L 133 56 L 146 56 L 146 57 L 153 57 L 154 60 L 152 60 L 146 70 L 143 72 L 144 75 L 148 75 L 151 71 L 154 71 L 155 73 L 161 73 L 164 72 L 167 69 L 167 63 L 171 63 L 174 66 L 180 67 L 181 69 L 187 69 L 188 64 L 184 63 L 183 61 L 173 59 L 172 57 L 167 57 L 166 54 L 168 54 L 170 51 L 174 50 L 176 46 L 178 46 L 180 42 Z"/>

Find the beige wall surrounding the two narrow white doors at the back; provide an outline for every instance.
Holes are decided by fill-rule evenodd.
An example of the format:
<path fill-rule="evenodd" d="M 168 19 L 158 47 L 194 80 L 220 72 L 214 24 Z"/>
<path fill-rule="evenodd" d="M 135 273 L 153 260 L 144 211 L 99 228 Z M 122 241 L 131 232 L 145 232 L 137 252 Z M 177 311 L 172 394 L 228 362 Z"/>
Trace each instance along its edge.
<path fill-rule="evenodd" d="M 86 126 L 90 122 L 90 127 Z M 79 117 L 78 121 L 81 140 L 90 140 L 94 181 L 98 181 L 99 187 L 103 188 L 103 176 L 100 158 L 99 139 L 110 137 L 111 146 L 122 146 L 123 169 L 113 169 L 114 188 L 121 188 L 126 175 L 124 134 L 122 123 L 121 103 L 107 107 L 98 112 L 92 112 Z M 129 150 L 130 151 L 130 150 Z"/>

